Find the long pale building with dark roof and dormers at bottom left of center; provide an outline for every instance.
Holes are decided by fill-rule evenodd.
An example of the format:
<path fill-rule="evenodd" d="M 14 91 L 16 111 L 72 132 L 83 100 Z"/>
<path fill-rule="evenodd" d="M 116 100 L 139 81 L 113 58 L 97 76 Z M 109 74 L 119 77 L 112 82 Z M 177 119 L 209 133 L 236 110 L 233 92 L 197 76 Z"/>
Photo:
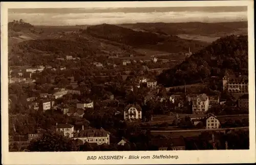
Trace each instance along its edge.
<path fill-rule="evenodd" d="M 104 129 L 86 129 L 77 132 L 74 140 L 79 139 L 83 143 L 110 144 L 110 133 Z"/>

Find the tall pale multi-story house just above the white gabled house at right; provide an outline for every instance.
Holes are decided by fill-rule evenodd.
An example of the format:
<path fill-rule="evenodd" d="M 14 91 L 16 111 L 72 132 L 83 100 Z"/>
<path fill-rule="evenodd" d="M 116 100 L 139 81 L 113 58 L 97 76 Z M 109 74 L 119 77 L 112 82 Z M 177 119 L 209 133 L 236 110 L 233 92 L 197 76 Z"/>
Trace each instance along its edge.
<path fill-rule="evenodd" d="M 200 94 L 192 99 L 193 114 L 204 114 L 209 108 L 209 98 L 206 94 Z"/>

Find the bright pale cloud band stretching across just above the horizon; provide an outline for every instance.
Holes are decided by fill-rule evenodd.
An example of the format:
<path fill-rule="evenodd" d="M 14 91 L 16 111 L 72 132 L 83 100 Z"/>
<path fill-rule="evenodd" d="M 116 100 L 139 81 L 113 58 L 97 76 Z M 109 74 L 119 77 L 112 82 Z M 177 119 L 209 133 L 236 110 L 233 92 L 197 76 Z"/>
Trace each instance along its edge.
<path fill-rule="evenodd" d="M 23 19 L 34 25 L 121 24 L 137 22 L 225 22 L 247 20 L 247 12 L 146 12 L 146 13 L 9 13 L 9 21 Z"/>

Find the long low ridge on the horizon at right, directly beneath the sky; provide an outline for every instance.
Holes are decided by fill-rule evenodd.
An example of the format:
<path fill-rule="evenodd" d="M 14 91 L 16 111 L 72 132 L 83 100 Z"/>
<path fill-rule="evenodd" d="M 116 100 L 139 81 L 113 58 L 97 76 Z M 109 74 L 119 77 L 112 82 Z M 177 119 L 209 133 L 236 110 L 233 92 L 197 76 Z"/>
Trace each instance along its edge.
<path fill-rule="evenodd" d="M 203 35 L 203 36 L 224 36 L 233 33 L 241 35 L 247 34 L 247 21 L 238 22 L 182 22 L 182 23 L 134 23 L 118 24 L 123 28 L 129 28 L 137 31 L 155 32 L 168 35 Z"/>

